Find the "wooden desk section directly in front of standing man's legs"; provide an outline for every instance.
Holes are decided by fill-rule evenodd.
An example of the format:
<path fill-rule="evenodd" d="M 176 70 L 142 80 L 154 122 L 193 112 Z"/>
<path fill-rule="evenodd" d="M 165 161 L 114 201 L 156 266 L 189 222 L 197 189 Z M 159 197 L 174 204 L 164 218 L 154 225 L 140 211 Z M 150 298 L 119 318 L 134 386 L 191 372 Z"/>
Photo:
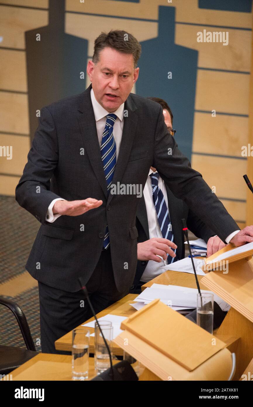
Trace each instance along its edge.
<path fill-rule="evenodd" d="M 121 300 L 115 302 L 114 304 L 110 305 L 108 308 L 104 309 L 100 313 L 97 314 L 97 318 L 104 317 L 107 314 L 113 314 L 113 315 L 120 315 L 122 317 L 129 317 L 133 313 L 136 312 L 136 310 L 129 305 L 129 303 L 133 303 L 134 299 L 137 297 L 137 294 L 128 294 L 125 297 L 121 298 Z M 83 324 L 87 324 L 87 322 L 94 321 L 94 317 L 87 319 L 87 321 L 83 322 Z M 83 325 L 81 324 L 81 325 Z M 81 327 L 79 325 L 78 328 Z M 90 333 L 94 332 L 94 328 L 89 328 Z M 71 352 L 72 350 L 72 331 L 68 332 L 66 335 L 62 336 L 61 338 L 57 339 L 55 341 L 55 349 L 57 350 L 64 350 L 64 351 L 69 351 Z M 122 356 L 123 355 L 123 349 L 121 349 L 118 345 L 113 343 L 113 354 L 116 356 Z M 89 352 L 94 353 L 94 336 L 91 336 L 89 338 Z"/>

